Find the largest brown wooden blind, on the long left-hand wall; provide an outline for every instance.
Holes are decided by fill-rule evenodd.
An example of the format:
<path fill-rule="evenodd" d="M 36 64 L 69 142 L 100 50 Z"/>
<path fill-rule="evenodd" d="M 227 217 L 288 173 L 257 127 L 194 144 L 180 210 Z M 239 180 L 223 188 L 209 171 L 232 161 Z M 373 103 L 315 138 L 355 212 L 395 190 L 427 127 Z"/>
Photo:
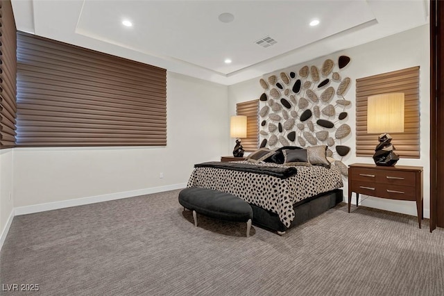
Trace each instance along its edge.
<path fill-rule="evenodd" d="M 17 147 L 167 145 L 167 71 L 17 33 Z"/>

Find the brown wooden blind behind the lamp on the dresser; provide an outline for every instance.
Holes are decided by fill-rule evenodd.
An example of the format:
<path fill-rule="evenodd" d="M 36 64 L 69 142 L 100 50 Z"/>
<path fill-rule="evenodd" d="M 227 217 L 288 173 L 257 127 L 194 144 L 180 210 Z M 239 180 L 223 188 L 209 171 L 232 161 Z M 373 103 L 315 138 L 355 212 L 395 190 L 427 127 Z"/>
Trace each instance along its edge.
<path fill-rule="evenodd" d="M 419 158 L 419 67 L 356 80 L 356 156 L 375 154 L 378 134 L 367 133 L 367 97 L 387 92 L 404 92 L 404 133 L 390 133 L 395 152 L 402 158 Z"/>

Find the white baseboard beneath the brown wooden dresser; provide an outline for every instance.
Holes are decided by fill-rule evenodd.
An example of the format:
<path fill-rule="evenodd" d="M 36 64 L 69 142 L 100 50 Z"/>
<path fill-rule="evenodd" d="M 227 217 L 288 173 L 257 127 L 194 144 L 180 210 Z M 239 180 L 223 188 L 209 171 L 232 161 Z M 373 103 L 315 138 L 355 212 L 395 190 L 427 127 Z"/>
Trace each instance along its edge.
<path fill-rule="evenodd" d="M 355 195 L 352 197 L 352 204 L 356 205 Z M 377 197 L 367 197 L 366 195 L 360 195 L 359 205 L 418 217 L 418 214 L 416 213 L 416 202 L 406 202 L 394 199 L 380 199 Z M 430 218 L 430 210 L 428 208 L 424 209 L 424 217 L 427 219 Z"/>

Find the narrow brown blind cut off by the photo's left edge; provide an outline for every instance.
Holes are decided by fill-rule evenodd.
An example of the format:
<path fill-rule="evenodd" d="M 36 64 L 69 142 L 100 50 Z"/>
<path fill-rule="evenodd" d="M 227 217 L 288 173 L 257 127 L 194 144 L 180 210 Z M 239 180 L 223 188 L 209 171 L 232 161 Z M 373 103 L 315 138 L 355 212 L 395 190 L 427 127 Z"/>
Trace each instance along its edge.
<path fill-rule="evenodd" d="M 0 149 L 15 147 L 17 29 L 10 1 L 0 1 Z"/>

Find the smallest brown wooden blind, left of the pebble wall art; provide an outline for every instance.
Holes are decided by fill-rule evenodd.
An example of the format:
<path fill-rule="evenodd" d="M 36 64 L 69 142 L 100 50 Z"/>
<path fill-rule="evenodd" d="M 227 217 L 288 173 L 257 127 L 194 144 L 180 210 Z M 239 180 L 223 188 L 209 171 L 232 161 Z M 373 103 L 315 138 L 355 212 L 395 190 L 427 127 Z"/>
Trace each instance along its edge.
<path fill-rule="evenodd" d="M 257 150 L 259 147 L 259 100 L 236 104 L 236 115 L 247 117 L 247 138 L 241 138 L 244 150 Z"/>

